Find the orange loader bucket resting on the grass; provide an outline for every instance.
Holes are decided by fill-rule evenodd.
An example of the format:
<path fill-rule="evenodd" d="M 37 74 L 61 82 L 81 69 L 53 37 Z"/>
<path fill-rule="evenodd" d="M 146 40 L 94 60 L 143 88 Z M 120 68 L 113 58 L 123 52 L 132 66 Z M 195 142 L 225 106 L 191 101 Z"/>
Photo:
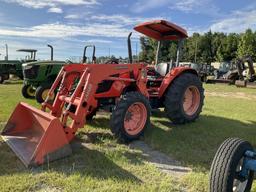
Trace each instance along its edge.
<path fill-rule="evenodd" d="M 1 136 L 26 167 L 72 153 L 59 119 L 25 103 L 17 105 Z"/>

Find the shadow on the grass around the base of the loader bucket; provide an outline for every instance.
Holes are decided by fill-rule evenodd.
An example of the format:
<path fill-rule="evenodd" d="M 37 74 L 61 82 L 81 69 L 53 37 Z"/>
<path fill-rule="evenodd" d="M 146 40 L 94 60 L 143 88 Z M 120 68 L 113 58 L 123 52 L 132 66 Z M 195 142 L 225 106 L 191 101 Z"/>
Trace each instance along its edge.
<path fill-rule="evenodd" d="M 122 155 L 122 152 L 108 150 L 108 155 L 97 150 L 92 143 L 84 143 L 84 140 L 75 139 L 71 143 L 73 154 L 69 157 L 44 164 L 42 166 L 27 169 L 16 157 L 12 150 L 3 141 L 0 141 L 0 176 L 12 175 L 16 173 L 37 174 L 45 171 L 58 172 L 72 175 L 79 174 L 81 177 L 95 177 L 99 180 L 114 179 L 127 180 L 141 183 L 142 181 L 129 171 L 117 165 L 109 153 Z M 95 149 L 94 149 L 95 148 Z M 133 154 L 124 153 L 129 158 L 135 158 Z M 134 160 L 137 163 L 137 160 Z"/>

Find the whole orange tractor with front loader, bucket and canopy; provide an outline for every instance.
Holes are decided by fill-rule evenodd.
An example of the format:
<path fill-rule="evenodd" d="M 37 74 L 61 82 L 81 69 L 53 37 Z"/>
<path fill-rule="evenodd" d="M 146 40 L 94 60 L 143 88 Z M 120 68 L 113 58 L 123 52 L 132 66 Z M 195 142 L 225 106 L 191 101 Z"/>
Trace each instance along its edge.
<path fill-rule="evenodd" d="M 142 23 L 134 29 L 159 41 L 155 66 L 132 62 L 130 34 L 129 64 L 110 60 L 105 64 L 64 66 L 41 109 L 17 105 L 1 135 L 26 166 L 70 155 L 69 143 L 77 130 L 100 109 L 112 113 L 111 131 L 125 142 L 138 139 L 149 127 L 151 108 L 164 107 L 175 124 L 198 118 L 204 90 L 197 72 L 179 67 L 179 59 L 175 64 L 158 62 L 161 42 L 182 41 L 187 37 L 186 30 L 163 20 Z M 49 98 L 54 93 L 52 102 Z"/>

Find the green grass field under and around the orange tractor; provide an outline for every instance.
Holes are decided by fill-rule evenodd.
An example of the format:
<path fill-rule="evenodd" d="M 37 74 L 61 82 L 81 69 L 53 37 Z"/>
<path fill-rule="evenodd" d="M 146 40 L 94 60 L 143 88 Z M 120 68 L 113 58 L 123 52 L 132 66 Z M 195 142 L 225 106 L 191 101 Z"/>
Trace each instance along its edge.
<path fill-rule="evenodd" d="M 21 83 L 0 85 L 0 122 L 19 101 Z M 256 90 L 205 85 L 203 113 L 195 123 L 174 126 L 163 112 L 153 113 L 144 141 L 193 169 L 183 178 L 160 172 L 140 150 L 118 144 L 107 116 L 97 116 L 78 133 L 73 155 L 26 169 L 0 140 L 1 191 L 207 191 L 211 160 L 228 137 L 256 146 Z M 81 144 L 83 143 L 83 144 Z M 254 188 L 256 190 L 256 188 Z"/>

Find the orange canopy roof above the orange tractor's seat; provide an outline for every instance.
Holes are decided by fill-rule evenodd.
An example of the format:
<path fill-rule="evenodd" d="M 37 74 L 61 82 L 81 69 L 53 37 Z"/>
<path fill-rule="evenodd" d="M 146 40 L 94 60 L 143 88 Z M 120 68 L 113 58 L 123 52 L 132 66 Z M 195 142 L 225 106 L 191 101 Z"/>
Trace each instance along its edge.
<path fill-rule="evenodd" d="M 185 29 L 165 20 L 145 22 L 135 26 L 134 30 L 158 41 L 179 40 L 188 37 Z"/>

